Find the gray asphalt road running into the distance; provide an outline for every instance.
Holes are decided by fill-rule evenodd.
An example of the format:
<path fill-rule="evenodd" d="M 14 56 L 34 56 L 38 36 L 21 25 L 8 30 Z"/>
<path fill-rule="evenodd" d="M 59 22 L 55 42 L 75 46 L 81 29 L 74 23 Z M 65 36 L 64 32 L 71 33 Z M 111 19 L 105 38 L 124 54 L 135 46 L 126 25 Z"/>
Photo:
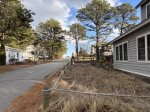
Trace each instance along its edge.
<path fill-rule="evenodd" d="M 14 98 L 66 64 L 67 61 L 55 61 L 0 74 L 0 112 L 3 112 Z"/>

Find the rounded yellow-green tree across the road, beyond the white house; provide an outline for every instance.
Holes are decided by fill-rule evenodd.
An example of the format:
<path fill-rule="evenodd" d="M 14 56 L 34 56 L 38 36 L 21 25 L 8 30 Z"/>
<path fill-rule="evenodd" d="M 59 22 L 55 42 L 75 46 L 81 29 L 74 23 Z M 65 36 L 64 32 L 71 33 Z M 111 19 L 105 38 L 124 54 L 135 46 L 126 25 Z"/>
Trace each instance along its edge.
<path fill-rule="evenodd" d="M 58 54 L 64 54 L 66 43 L 62 40 L 62 28 L 57 20 L 49 19 L 46 22 L 39 23 L 36 32 L 42 40 L 41 46 L 47 50 L 50 59 Z"/>

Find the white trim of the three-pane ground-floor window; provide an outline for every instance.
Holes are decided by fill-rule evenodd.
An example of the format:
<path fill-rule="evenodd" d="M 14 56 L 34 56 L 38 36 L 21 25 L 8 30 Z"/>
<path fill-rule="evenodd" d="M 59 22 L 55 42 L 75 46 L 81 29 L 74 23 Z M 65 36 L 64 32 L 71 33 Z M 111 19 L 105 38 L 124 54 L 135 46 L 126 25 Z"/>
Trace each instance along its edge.
<path fill-rule="evenodd" d="M 124 60 L 124 47 L 123 47 L 123 45 L 125 44 L 125 43 L 127 43 L 127 56 L 128 56 L 128 60 Z M 123 60 L 120 60 L 120 45 L 122 45 L 122 55 L 123 55 Z M 117 62 L 129 62 L 129 47 L 128 47 L 128 41 L 125 41 L 125 42 L 122 42 L 122 43 L 120 43 L 120 44 L 118 44 L 118 45 L 116 45 L 115 46 L 115 56 L 116 56 L 116 47 L 118 46 L 118 54 L 119 54 L 119 60 L 116 60 L 116 57 L 115 57 L 115 60 L 117 61 Z"/>

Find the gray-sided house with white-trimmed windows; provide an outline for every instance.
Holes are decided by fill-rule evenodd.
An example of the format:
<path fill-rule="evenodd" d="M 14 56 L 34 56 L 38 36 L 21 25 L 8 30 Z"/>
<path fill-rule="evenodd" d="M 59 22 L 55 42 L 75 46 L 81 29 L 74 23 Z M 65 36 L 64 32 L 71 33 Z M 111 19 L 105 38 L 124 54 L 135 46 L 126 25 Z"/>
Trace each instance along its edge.
<path fill-rule="evenodd" d="M 141 23 L 112 40 L 114 68 L 150 77 L 150 0 L 142 0 Z"/>

